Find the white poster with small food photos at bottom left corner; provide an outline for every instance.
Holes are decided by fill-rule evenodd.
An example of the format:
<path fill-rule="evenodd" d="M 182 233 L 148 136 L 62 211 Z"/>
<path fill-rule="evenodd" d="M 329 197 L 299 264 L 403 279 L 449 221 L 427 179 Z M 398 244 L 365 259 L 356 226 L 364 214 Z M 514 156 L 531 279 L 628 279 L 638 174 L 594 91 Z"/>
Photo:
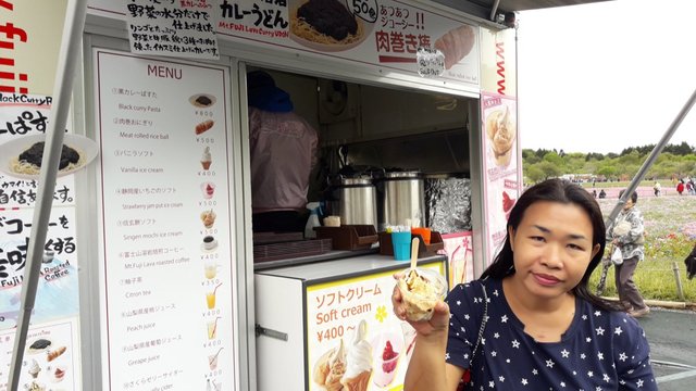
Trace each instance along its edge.
<path fill-rule="evenodd" d="M 14 330 L 0 331 L 0 349 L 12 352 Z M 20 371 L 21 390 L 82 390 L 77 321 L 63 319 L 29 327 Z M 9 379 L 11 354 L 0 355 L 0 379 Z M 7 391 L 7 382 L 0 382 Z"/>

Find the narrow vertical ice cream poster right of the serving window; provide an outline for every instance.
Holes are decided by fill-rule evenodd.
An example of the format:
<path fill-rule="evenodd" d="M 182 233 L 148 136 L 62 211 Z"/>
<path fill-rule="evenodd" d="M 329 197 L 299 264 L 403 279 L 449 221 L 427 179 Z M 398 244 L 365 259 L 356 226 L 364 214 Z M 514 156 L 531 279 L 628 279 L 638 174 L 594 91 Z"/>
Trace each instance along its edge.
<path fill-rule="evenodd" d="M 520 195 L 517 99 L 482 93 L 481 112 L 484 224 L 489 264 L 505 241 L 508 217 Z"/>

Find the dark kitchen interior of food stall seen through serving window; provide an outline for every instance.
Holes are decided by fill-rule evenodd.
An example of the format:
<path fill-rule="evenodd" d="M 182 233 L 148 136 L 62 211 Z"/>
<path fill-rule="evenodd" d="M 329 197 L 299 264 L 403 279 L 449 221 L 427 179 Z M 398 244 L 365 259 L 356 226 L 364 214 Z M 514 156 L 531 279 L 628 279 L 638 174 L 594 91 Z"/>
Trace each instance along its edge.
<path fill-rule="evenodd" d="M 377 232 L 391 225 L 433 227 L 444 235 L 471 230 L 470 113 L 478 108 L 476 99 L 247 66 L 248 73 L 256 71 L 268 73 L 276 87 L 289 94 L 294 112 L 319 134 L 318 163 L 307 199 L 308 203 L 321 204 L 320 222 L 352 206 L 375 210 L 376 219 L 344 213 L 341 223 L 372 224 Z M 385 178 L 390 174 L 413 174 L 424 189 L 422 206 L 409 220 L 385 211 L 389 202 Z M 341 199 L 344 185 L 351 178 L 364 179 L 364 186 L 374 187 L 374 199 Z M 254 231 L 254 244 L 274 241 Z M 307 239 L 301 232 L 276 238 Z M 301 262 L 308 254 L 301 250 L 293 253 L 288 248 L 283 258 Z M 254 256 L 257 263 L 271 260 L 259 254 Z"/>

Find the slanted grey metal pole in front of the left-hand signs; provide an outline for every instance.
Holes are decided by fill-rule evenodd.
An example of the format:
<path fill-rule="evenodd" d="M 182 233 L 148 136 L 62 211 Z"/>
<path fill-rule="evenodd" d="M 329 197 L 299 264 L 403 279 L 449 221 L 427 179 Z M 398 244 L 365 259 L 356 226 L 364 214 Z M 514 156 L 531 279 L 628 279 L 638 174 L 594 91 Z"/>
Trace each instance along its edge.
<path fill-rule="evenodd" d="M 73 77 L 76 62 L 79 59 L 79 47 L 85 27 L 86 12 L 87 0 L 69 0 L 65 10 L 65 25 L 63 27 L 61 50 L 58 58 L 55 83 L 53 84 L 53 97 L 57 99 L 54 99 L 54 103 L 51 106 L 50 118 L 52 118 L 52 121 L 48 123 L 46 130 L 46 144 L 37 189 L 38 207 L 34 211 L 33 229 L 26 255 L 26 268 L 22 281 L 22 308 L 20 311 L 17 330 L 14 337 L 10 381 L 8 383 L 11 391 L 17 391 L 20 384 L 22 360 L 24 358 L 24 349 L 26 346 L 32 311 L 34 310 L 34 302 L 36 301 L 41 257 L 46 243 L 46 231 L 53 204 L 55 176 L 58 174 L 61 150 L 63 149 L 63 136 L 67 123 Z"/>

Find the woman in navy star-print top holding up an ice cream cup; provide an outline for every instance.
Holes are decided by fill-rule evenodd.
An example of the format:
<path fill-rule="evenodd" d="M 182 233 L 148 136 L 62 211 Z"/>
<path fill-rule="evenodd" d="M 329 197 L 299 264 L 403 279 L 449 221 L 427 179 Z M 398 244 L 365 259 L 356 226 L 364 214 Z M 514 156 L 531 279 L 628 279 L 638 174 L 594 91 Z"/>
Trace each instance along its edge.
<path fill-rule="evenodd" d="M 410 321 L 405 389 L 453 391 L 471 368 L 475 390 L 657 390 L 641 326 L 587 288 L 605 244 L 587 191 L 559 179 L 526 190 L 482 279 L 455 287 L 431 320 Z M 398 289 L 393 302 L 406 319 Z"/>

